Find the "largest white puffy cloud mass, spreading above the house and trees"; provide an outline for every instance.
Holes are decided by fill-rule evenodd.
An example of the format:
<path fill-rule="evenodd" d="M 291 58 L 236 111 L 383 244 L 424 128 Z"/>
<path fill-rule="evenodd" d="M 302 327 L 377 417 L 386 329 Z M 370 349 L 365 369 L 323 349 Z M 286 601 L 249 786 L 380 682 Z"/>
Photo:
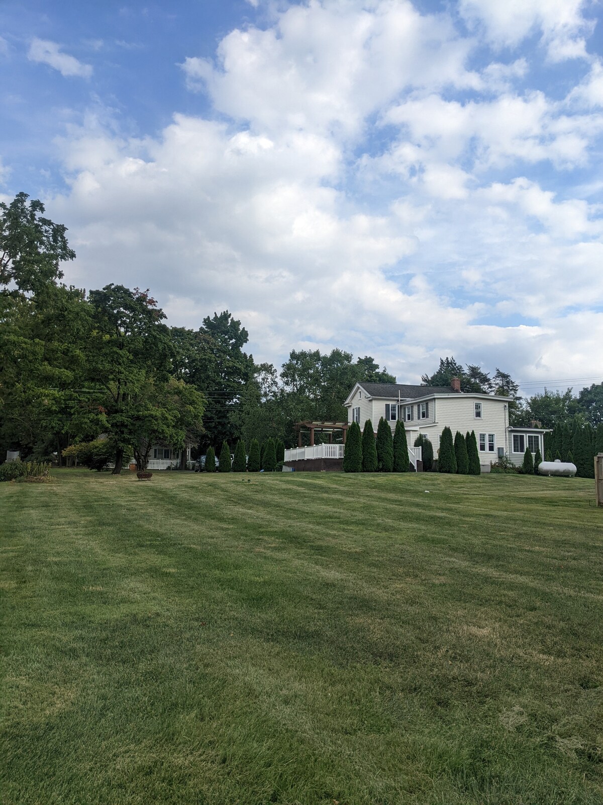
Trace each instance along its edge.
<path fill-rule="evenodd" d="M 527 5 L 515 37 L 552 25 Z M 68 279 L 152 287 L 174 324 L 228 308 L 270 361 L 338 345 L 407 381 L 445 353 L 567 377 L 573 349 L 573 373 L 603 374 L 576 313 L 601 332 L 601 208 L 530 172 L 597 164 L 597 65 L 552 101 L 524 57 L 475 63 L 494 32 L 519 41 L 497 14 L 467 36 L 411 2 L 288 6 L 183 60 L 215 119 L 133 139 L 88 115 L 58 142 L 69 191 L 49 204 Z"/>

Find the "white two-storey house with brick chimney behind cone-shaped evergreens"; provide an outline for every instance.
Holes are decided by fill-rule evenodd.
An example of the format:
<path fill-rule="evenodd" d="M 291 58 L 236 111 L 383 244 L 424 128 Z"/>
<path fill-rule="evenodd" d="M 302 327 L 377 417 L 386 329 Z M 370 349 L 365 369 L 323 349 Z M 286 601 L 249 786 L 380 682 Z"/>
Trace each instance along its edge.
<path fill-rule="evenodd" d="M 402 419 L 408 445 L 415 443 L 420 433 L 433 444 L 434 456 L 440 448 L 441 432 L 448 425 L 453 433 L 475 431 L 482 472 L 490 470 L 490 461 L 509 456 L 521 464 L 526 448 L 535 453 L 539 448 L 544 456 L 544 431 L 539 427 L 509 427 L 510 397 L 495 394 L 474 394 L 461 391 L 461 382 L 453 378 L 450 386 L 407 386 L 400 383 L 356 383 L 344 406 L 348 423 L 364 427 L 371 419 L 377 430 L 384 417 L 392 427 Z"/>

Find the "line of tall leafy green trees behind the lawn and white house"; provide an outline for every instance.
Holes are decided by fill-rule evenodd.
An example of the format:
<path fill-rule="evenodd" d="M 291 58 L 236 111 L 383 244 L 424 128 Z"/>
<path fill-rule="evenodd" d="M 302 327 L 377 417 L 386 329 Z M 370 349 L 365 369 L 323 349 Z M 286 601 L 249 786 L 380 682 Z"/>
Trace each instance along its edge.
<path fill-rule="evenodd" d="M 355 382 L 396 382 L 373 357 L 342 349 L 292 350 L 280 369 L 258 364 L 245 351 L 247 330 L 228 310 L 198 328 L 169 327 L 148 289 L 67 287 L 61 264 L 76 254 L 64 225 L 44 212 L 26 193 L 0 204 L 2 454 L 60 463 L 71 450 L 89 462 L 112 460 L 117 473 L 129 456 L 144 467 L 154 444 L 191 444 L 199 453 L 239 440 L 250 452 L 253 439 L 293 446 L 294 423 L 347 421 L 343 400 Z M 603 421 L 598 386 L 577 402 L 545 393 L 527 407 L 502 370 L 490 380 L 448 357 L 422 381 L 447 386 L 453 376 L 461 390 L 513 397 L 512 416 L 529 411 L 544 427 L 549 410 L 555 421 Z"/>

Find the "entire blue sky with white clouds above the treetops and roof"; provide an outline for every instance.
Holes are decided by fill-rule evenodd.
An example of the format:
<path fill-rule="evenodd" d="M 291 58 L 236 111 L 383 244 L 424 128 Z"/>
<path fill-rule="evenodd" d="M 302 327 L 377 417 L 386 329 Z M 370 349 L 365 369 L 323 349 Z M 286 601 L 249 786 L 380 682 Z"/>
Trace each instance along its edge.
<path fill-rule="evenodd" d="M 256 359 L 578 388 L 603 379 L 600 15 L 4 2 L 0 193 L 68 225 L 69 282 L 148 286 L 170 324 L 228 308 Z"/>

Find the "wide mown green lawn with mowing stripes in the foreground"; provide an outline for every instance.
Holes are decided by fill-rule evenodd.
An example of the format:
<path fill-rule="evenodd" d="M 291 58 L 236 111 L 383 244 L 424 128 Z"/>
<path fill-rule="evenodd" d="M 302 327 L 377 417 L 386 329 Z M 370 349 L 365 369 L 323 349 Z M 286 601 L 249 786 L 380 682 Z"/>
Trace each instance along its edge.
<path fill-rule="evenodd" d="M 65 470 L 0 506 L 3 805 L 603 803 L 593 481 Z"/>

